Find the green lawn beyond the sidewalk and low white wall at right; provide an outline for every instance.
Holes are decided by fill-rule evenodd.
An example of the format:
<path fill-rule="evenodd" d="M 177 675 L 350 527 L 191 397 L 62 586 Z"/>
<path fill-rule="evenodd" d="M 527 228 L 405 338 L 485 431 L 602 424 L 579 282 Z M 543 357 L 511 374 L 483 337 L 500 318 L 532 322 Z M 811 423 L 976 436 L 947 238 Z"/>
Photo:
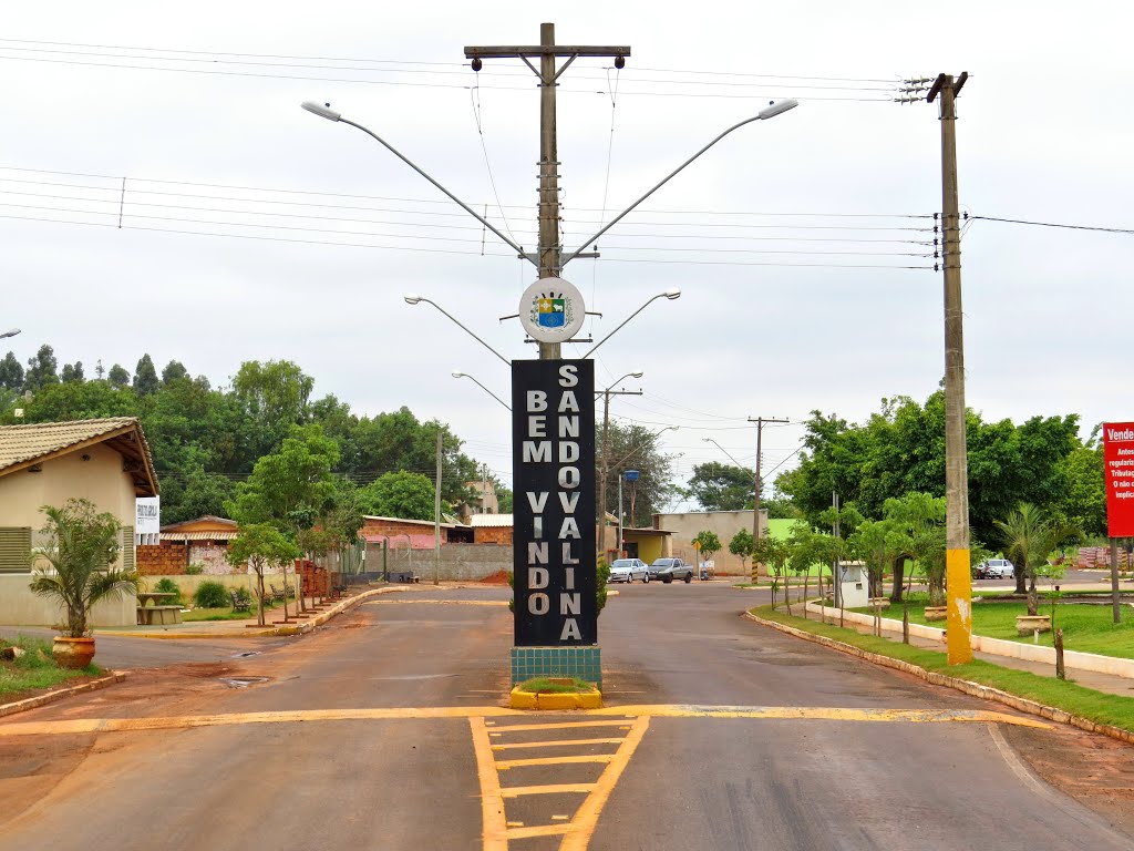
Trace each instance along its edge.
<path fill-rule="evenodd" d="M 924 595 L 911 599 L 909 623 L 943 629 L 943 622 L 925 620 L 924 605 Z M 871 614 L 869 608 L 854 610 Z M 973 606 L 973 632 L 989 638 L 1031 643 L 1032 635 L 1016 634 L 1016 615 L 1026 614 L 1027 605 L 1024 603 L 1017 600 L 993 603 L 985 598 L 983 603 Z M 1051 603 L 1042 597 L 1040 614 L 1051 614 Z M 890 606 L 882 612 L 882 617 L 900 620 L 902 607 Z M 1040 644 L 1051 647 L 1056 629 L 1064 631 L 1064 648 L 1067 650 L 1134 659 L 1134 609 L 1128 606 L 1123 607 L 1123 621 L 1116 624 L 1110 606 L 1057 604 L 1052 631 L 1040 633 Z"/>

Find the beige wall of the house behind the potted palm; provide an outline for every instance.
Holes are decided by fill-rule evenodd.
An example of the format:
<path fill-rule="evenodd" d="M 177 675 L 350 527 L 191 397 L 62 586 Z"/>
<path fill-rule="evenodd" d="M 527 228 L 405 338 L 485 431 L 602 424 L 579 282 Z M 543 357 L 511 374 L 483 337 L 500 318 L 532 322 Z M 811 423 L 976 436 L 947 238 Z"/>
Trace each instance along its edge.
<path fill-rule="evenodd" d="M 83 456 L 87 460 L 84 461 Z M 28 526 L 33 544 L 46 517 L 40 508 L 61 506 L 71 497 L 90 499 L 99 511 L 110 512 L 122 523 L 135 522 L 134 482 L 122 471 L 122 456 L 104 445 L 87 446 L 40 464 L 37 473 L 17 470 L 0 477 L 0 526 Z M 118 566 L 121 566 L 119 556 Z M 0 575 L 0 623 L 22 626 L 52 626 L 61 612 L 48 599 L 28 589 L 31 567 L 25 574 Z M 95 626 L 126 626 L 137 623 L 137 598 L 126 595 L 94 608 Z"/>

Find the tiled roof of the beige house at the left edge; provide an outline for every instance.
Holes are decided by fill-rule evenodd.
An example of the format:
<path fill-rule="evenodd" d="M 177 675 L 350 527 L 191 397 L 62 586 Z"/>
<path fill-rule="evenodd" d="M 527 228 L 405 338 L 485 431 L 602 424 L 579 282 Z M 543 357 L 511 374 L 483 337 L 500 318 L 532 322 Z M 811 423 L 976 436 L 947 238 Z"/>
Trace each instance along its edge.
<path fill-rule="evenodd" d="M 98 444 L 108 444 L 122 456 L 137 496 L 158 495 L 150 445 L 136 416 L 0 426 L 0 475 Z"/>

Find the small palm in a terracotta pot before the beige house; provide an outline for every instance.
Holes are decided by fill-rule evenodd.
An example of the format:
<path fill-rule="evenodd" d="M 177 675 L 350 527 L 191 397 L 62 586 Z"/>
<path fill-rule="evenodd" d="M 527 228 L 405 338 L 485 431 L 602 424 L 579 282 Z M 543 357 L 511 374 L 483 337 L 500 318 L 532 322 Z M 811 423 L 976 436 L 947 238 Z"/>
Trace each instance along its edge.
<path fill-rule="evenodd" d="M 32 553 L 36 562 L 32 591 L 57 600 L 67 620 L 52 652 L 62 667 L 84 668 L 94 658 L 94 638 L 87 626 L 93 606 L 137 591 L 138 575 L 115 566 L 120 549 L 121 523 L 100 513 L 90 499 L 68 499 L 61 507 L 45 505 L 48 516 L 40 530 L 43 546 Z M 42 563 L 46 562 L 46 565 Z"/>

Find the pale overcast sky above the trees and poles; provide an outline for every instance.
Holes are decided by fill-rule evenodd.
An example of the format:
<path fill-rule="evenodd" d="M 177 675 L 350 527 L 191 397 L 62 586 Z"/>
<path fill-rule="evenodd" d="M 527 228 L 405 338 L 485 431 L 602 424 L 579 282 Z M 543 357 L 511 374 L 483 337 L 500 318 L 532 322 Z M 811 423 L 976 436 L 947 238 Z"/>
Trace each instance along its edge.
<path fill-rule="evenodd" d="M 0 39 L 0 343 L 133 372 L 149 353 L 223 386 L 290 360 L 359 414 L 449 423 L 510 482 L 508 359 L 536 275 L 330 103 L 526 250 L 535 243 L 539 93 L 519 59 L 465 45 L 628 45 L 579 58 L 558 91 L 564 245 L 729 134 L 564 270 L 602 314 L 611 415 L 653 431 L 678 483 L 706 461 L 798 460 L 813 410 L 852 422 L 924 401 L 943 374 L 937 104 L 902 81 L 959 75 L 966 402 L 985 420 L 1134 419 L 1134 119 L 1119 93 L 1134 9 L 1086 0 L 931 6 L 201 0 L 25 3 Z M 983 217 L 983 218 L 980 218 Z M 5 346 L 3 344 L 9 344 Z M 565 346 L 581 356 L 590 346 Z M 642 379 L 621 377 L 634 370 Z M 601 408 L 600 408 L 601 416 Z M 716 443 L 711 443 L 716 441 Z M 718 446 L 719 445 L 719 446 Z M 671 508 L 687 507 L 675 503 Z"/>

